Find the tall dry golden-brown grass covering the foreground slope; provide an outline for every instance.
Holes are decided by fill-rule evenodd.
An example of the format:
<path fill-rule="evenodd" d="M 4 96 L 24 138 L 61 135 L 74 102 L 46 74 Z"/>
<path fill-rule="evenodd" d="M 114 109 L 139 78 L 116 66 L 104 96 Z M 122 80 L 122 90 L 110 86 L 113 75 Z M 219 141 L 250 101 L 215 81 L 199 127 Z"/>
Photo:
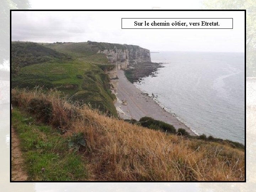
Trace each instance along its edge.
<path fill-rule="evenodd" d="M 88 106 L 71 105 L 58 92 L 43 94 L 12 90 L 12 104 L 26 109 L 32 99 L 52 103 L 49 123 L 83 132 L 81 153 L 91 180 L 114 181 L 242 181 L 244 151 L 197 139 L 187 139 L 103 116 Z"/>

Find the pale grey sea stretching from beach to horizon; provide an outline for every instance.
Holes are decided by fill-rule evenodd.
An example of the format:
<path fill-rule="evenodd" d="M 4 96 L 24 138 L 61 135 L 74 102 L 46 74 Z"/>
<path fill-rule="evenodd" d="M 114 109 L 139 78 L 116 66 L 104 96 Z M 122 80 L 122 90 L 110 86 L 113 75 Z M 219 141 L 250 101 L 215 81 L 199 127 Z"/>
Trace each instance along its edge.
<path fill-rule="evenodd" d="M 151 61 L 164 68 L 134 84 L 197 134 L 244 144 L 244 58 L 244 53 L 151 53 Z"/>

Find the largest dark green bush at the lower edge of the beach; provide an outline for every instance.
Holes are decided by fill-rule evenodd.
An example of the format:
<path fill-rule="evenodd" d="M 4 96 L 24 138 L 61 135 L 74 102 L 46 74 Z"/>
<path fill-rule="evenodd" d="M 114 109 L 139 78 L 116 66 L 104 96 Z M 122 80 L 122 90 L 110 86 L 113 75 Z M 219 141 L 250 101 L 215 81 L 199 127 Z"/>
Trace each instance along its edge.
<path fill-rule="evenodd" d="M 155 120 L 151 117 L 142 117 L 140 118 L 139 122 L 143 127 L 148 127 L 153 129 L 156 129 L 158 127 L 158 129 L 167 131 L 168 133 L 174 133 L 174 134 L 176 133 L 176 129 L 174 128 L 174 126 L 168 123 L 165 123 L 163 121 Z"/>

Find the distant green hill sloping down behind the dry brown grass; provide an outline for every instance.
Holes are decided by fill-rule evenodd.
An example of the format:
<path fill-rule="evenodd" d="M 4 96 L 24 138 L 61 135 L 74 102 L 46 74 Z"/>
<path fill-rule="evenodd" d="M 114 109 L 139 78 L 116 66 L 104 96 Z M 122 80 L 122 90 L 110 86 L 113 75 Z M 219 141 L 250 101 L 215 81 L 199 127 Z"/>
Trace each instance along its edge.
<path fill-rule="evenodd" d="M 102 69 L 111 69 L 104 54 L 89 43 L 11 44 L 11 87 L 57 88 L 72 101 L 117 115 L 110 80 Z"/>

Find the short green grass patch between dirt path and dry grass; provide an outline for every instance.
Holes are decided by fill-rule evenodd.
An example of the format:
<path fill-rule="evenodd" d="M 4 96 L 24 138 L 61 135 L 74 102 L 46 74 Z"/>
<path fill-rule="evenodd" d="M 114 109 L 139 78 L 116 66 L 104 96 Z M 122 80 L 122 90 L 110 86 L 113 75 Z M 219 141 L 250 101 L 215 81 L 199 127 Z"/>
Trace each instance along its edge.
<path fill-rule="evenodd" d="M 28 180 L 86 180 L 88 172 L 82 156 L 68 145 L 74 140 L 72 137 L 64 137 L 57 129 L 36 122 L 17 108 L 12 111 L 11 120 L 21 142 Z"/>

